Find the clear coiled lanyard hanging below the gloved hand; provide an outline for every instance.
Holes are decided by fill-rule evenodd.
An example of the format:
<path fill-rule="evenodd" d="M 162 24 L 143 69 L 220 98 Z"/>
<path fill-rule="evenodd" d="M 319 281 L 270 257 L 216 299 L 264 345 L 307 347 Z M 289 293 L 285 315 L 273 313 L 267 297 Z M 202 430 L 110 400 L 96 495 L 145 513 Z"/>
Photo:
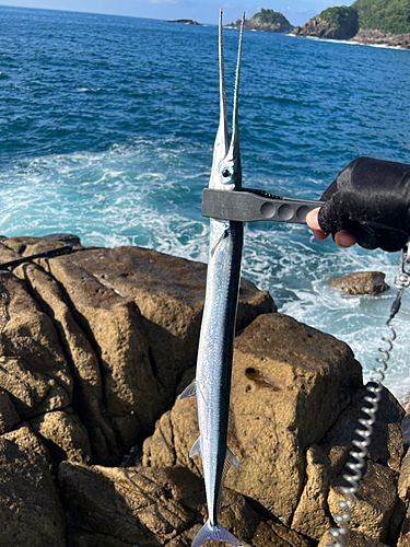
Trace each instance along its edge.
<path fill-rule="evenodd" d="M 341 492 L 345 497 L 345 499 L 338 501 L 338 505 L 342 510 L 342 513 L 333 514 L 333 520 L 339 527 L 332 527 L 329 531 L 336 543 L 326 544 L 326 547 L 344 547 L 343 536 L 349 532 L 348 521 L 352 516 L 351 508 L 355 502 L 354 494 L 358 492 L 359 482 L 363 477 L 365 457 L 368 453 L 368 445 L 371 443 L 373 433 L 373 424 L 376 421 L 378 404 L 382 397 L 382 382 L 385 380 L 385 373 L 388 366 L 387 362 L 390 359 L 393 342 L 396 340 L 396 330 L 390 325 L 390 322 L 400 310 L 403 292 L 410 286 L 410 270 L 406 270 L 406 266 L 409 263 L 410 245 L 407 245 L 401 254 L 399 275 L 395 278 L 394 283 L 397 289 L 397 295 L 390 309 L 390 316 L 386 322 L 386 325 L 390 330 L 390 337 L 382 337 L 382 340 L 387 345 L 387 347 L 378 348 L 378 351 L 383 357 L 376 358 L 376 362 L 378 363 L 378 365 L 373 369 L 371 381 L 366 385 L 367 394 L 364 396 L 364 401 L 366 405 L 363 405 L 361 408 L 361 412 L 365 417 L 361 417 L 358 420 L 362 428 L 358 428 L 354 431 L 360 439 L 354 439 L 352 441 L 354 449 L 349 453 L 351 459 L 345 464 L 347 473 L 343 475 L 343 479 L 348 482 L 349 486 L 341 488 Z"/>

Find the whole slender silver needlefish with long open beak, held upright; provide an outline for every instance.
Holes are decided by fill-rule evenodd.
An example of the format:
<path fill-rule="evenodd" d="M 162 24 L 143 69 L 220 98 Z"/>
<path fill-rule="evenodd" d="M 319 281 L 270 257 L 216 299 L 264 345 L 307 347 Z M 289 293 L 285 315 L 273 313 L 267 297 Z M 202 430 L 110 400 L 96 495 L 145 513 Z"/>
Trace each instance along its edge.
<path fill-rule="evenodd" d="M 216 132 L 209 188 L 234 191 L 242 187 L 239 126 L 237 118 L 241 72 L 242 20 L 236 65 L 233 124 L 229 143 L 226 97 L 222 45 L 222 10 L 219 23 L 220 121 Z M 201 455 L 208 504 L 208 521 L 191 547 L 209 539 L 232 545 L 241 543 L 218 522 L 222 486 L 230 467 L 241 469 L 226 445 L 230 409 L 233 344 L 241 280 L 243 223 L 210 220 L 210 252 L 206 302 L 202 316 L 196 381 L 180 398 L 197 396 L 200 437 L 189 456 Z"/>

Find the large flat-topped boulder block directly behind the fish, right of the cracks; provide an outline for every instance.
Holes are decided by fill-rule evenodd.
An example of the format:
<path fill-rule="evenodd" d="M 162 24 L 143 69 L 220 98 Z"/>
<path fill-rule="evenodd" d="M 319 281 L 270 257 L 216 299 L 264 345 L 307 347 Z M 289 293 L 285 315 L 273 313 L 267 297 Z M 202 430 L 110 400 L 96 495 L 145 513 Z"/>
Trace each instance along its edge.
<path fill-rule="evenodd" d="M 196 360 L 206 266 L 119 247 L 54 259 L 49 272 L 96 349 L 107 415 L 126 452 L 151 431 Z M 273 309 L 250 282 L 243 282 L 239 299 L 238 328 Z"/>

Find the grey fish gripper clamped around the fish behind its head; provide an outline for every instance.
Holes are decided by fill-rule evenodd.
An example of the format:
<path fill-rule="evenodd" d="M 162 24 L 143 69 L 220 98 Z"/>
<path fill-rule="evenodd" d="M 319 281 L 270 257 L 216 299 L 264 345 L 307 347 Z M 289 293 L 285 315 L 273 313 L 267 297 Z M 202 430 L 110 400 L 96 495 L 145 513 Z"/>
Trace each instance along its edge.
<path fill-rule="evenodd" d="M 306 224 L 306 217 L 323 201 L 309 199 L 274 198 L 247 191 L 222 191 L 204 188 L 202 193 L 202 216 L 237 222 L 288 222 Z"/>

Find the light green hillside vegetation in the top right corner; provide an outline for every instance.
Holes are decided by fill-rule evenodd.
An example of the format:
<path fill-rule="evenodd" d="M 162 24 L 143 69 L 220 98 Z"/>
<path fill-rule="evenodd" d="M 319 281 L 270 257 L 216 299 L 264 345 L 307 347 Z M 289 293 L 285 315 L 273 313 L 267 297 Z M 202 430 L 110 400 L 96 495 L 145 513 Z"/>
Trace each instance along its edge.
<path fill-rule="evenodd" d="M 391 34 L 410 33 L 410 0 L 356 0 L 361 28 Z"/>

